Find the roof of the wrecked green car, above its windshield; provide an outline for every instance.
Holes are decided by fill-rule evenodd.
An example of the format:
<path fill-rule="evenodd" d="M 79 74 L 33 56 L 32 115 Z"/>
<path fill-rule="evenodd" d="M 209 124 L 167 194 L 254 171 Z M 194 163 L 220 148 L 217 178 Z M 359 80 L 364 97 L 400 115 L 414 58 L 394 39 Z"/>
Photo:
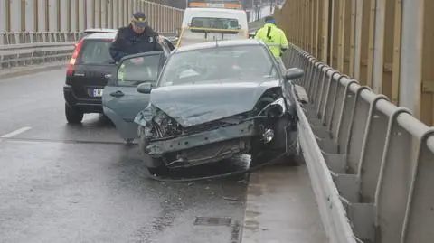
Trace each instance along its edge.
<path fill-rule="evenodd" d="M 263 42 L 255 39 L 243 39 L 243 40 L 228 40 L 228 41 L 216 41 L 216 42 L 200 42 L 189 45 L 184 45 L 175 49 L 175 53 L 184 51 L 193 51 L 198 49 L 211 49 L 215 47 L 231 47 L 231 46 L 242 46 L 242 45 L 261 45 L 264 46 Z"/>

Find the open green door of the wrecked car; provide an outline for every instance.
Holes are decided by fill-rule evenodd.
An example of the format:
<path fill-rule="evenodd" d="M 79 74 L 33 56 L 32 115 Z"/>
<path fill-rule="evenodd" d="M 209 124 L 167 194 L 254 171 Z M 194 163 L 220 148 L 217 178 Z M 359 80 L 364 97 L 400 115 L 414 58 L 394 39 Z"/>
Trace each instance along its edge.
<path fill-rule="evenodd" d="M 142 83 L 155 85 L 165 60 L 165 51 L 126 56 L 119 61 L 118 70 L 104 88 L 104 114 L 115 124 L 127 144 L 137 138 L 134 118 L 149 103 L 149 94 L 138 93 L 137 86 Z"/>

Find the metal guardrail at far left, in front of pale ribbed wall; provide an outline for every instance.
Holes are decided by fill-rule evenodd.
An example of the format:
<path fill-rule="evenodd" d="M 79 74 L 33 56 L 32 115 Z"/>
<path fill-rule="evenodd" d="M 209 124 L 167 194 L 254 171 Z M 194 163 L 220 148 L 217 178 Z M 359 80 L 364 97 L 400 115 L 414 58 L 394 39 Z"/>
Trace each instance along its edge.
<path fill-rule="evenodd" d="M 0 69 L 67 61 L 79 33 L 0 33 Z"/>

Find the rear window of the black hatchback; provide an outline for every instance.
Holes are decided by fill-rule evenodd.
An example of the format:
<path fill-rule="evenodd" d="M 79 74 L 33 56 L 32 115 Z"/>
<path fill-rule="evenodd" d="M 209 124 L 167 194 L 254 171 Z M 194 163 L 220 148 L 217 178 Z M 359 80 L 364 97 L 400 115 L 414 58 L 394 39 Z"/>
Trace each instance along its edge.
<path fill-rule="evenodd" d="M 85 40 L 81 47 L 77 64 L 113 63 L 109 48 L 111 40 Z"/>

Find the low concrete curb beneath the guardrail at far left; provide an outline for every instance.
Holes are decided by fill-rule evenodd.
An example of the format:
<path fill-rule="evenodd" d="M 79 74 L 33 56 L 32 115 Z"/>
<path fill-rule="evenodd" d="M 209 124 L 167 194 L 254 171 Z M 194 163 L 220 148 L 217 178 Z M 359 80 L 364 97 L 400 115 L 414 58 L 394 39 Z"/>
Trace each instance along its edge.
<path fill-rule="evenodd" d="M 66 67 L 67 62 L 59 62 L 48 65 L 32 65 L 13 69 L 0 70 L 0 80 L 29 75 L 47 70 L 60 70 Z"/>

